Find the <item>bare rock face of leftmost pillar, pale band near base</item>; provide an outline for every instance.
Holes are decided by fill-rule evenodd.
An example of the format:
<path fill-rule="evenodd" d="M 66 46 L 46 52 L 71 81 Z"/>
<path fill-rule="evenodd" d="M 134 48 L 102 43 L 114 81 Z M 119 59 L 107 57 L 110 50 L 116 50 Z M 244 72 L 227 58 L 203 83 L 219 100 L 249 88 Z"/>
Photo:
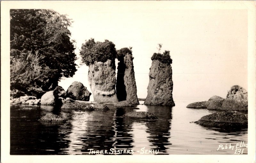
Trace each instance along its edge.
<path fill-rule="evenodd" d="M 97 62 L 89 66 L 88 81 L 95 102 L 117 102 L 115 62 Z"/>

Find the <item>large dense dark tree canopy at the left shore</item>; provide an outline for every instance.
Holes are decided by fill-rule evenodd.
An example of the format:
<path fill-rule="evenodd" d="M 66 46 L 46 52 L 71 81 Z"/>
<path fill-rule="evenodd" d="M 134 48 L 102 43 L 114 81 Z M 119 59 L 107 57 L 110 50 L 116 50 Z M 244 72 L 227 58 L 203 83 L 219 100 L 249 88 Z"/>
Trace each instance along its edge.
<path fill-rule="evenodd" d="M 71 20 L 53 10 L 10 10 L 11 90 L 54 89 L 76 71 Z"/>

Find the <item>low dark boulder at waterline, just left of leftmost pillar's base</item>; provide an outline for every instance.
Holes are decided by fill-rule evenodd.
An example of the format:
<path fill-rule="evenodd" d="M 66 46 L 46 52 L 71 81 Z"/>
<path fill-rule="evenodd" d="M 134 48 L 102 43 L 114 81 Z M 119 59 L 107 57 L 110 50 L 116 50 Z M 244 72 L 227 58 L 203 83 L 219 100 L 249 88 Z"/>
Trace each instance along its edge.
<path fill-rule="evenodd" d="M 85 103 L 79 103 L 79 102 L 65 102 L 61 109 L 66 110 L 83 110 L 83 111 L 92 111 L 95 110 L 91 105 L 85 104 Z"/>

